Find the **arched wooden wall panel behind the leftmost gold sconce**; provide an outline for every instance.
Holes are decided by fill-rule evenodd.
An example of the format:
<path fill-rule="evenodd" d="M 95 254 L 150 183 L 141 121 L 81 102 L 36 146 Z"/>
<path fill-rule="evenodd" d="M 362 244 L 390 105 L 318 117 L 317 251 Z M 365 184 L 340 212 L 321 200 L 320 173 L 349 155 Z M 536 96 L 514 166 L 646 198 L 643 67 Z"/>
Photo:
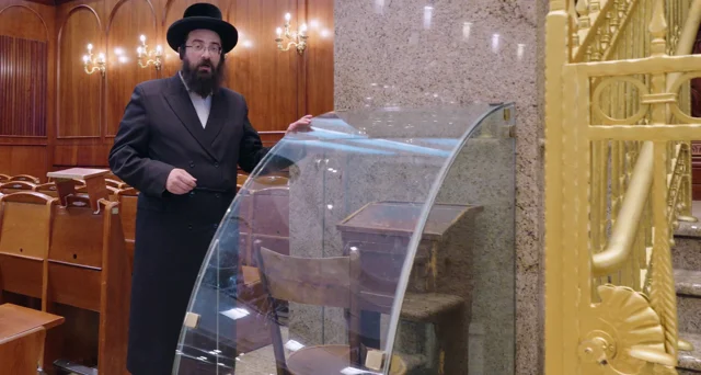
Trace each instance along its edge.
<path fill-rule="evenodd" d="M 93 45 L 93 58 L 105 50 L 97 12 L 85 4 L 71 7 L 58 29 L 57 138 L 101 136 L 102 82 L 100 72 L 88 75 L 82 56 Z"/>

